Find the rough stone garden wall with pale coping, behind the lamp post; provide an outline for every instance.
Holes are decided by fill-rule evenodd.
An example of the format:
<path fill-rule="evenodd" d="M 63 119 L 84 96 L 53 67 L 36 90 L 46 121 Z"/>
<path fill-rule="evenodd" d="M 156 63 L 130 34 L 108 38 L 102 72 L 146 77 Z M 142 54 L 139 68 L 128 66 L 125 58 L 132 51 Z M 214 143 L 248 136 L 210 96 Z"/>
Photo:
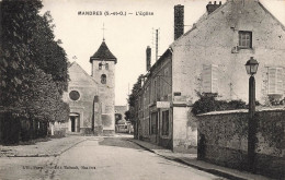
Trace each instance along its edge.
<path fill-rule="evenodd" d="M 285 111 L 256 112 L 256 173 L 285 178 Z M 247 110 L 208 112 L 198 116 L 198 158 L 247 170 Z"/>

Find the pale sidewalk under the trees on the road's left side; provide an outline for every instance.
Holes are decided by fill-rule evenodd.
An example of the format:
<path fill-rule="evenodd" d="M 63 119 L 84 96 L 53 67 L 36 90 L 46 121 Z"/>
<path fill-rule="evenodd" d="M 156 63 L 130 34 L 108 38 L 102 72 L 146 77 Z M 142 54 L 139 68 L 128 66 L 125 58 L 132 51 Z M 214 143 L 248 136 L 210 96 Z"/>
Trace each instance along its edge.
<path fill-rule="evenodd" d="M 50 139 L 33 145 L 4 146 L 0 145 L 0 157 L 48 157 L 58 156 L 75 145 L 88 140 L 88 136 L 69 135 L 61 139 Z"/>

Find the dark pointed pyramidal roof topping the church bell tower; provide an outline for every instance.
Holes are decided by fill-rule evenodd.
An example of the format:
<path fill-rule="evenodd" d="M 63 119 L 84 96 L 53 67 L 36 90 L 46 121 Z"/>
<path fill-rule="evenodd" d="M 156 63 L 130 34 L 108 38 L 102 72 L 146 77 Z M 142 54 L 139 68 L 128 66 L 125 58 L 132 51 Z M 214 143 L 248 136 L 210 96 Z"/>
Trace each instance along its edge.
<path fill-rule="evenodd" d="M 92 60 L 115 61 L 115 63 L 117 62 L 116 57 L 107 48 L 105 40 L 102 41 L 96 52 L 90 57 L 90 62 L 92 62 Z"/>

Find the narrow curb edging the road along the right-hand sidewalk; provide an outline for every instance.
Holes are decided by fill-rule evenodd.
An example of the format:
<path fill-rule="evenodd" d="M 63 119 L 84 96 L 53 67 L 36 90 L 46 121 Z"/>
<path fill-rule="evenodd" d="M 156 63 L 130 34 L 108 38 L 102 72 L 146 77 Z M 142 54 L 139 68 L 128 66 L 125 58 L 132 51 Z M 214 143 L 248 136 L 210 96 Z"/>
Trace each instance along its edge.
<path fill-rule="evenodd" d="M 168 157 L 168 156 L 164 156 L 164 155 L 161 155 L 159 153 L 157 153 L 156 151 L 152 151 L 135 141 L 132 141 L 132 140 L 127 140 L 129 142 L 133 142 L 135 144 L 137 144 L 138 146 L 142 147 L 144 149 L 148 151 L 148 152 L 151 152 L 151 153 L 155 153 L 168 160 L 174 160 L 176 163 L 180 163 L 180 164 L 183 164 L 183 165 L 186 165 L 186 166 L 190 166 L 192 168 L 195 168 L 195 169 L 198 169 L 198 170 L 202 170 L 202 171 L 206 171 L 206 172 L 209 172 L 212 175 L 216 175 L 216 176 L 219 176 L 219 177 L 223 177 L 223 178 L 227 178 L 227 179 L 232 179 L 232 180 L 248 180 L 248 179 L 244 179 L 244 178 L 241 178 L 241 177 L 238 177 L 238 176 L 235 176 L 235 175 L 231 175 L 231 173 L 227 173 L 225 171 L 220 171 L 220 170 L 217 170 L 217 169 L 212 169 L 212 168 L 204 168 L 202 166 L 197 166 L 197 165 L 194 165 L 194 164 L 191 164 L 191 163 L 187 163 L 186 160 L 183 160 L 183 159 L 180 159 L 180 158 L 171 158 L 171 157 Z"/>

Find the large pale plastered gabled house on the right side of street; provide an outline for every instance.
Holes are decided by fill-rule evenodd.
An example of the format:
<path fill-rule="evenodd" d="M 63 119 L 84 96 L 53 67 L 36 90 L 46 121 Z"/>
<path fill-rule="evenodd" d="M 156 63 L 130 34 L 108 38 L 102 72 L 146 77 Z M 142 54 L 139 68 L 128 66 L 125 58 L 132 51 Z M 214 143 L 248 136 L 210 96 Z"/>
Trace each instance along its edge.
<path fill-rule="evenodd" d="M 285 27 L 259 1 L 209 2 L 206 10 L 183 34 L 183 5 L 174 7 L 175 39 L 147 70 L 137 94 L 138 139 L 175 152 L 195 151 L 191 110 L 197 93 L 248 101 L 244 64 L 251 57 L 260 63 L 256 99 L 263 105 L 284 99 Z"/>

